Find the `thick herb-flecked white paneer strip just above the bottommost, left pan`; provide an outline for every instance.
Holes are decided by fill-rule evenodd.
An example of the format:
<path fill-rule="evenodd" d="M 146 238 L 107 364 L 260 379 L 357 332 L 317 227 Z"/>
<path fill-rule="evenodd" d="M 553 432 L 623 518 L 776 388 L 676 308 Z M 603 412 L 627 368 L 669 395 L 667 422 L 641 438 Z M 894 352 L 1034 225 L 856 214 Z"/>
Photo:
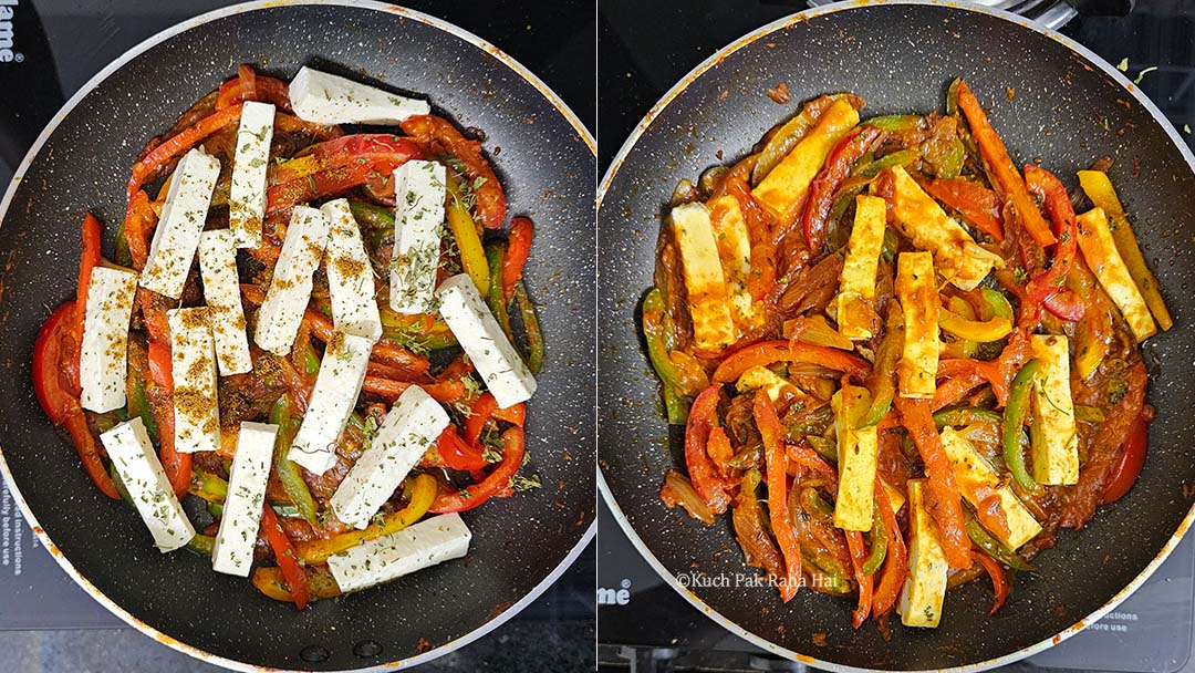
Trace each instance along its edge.
<path fill-rule="evenodd" d="M 423 388 L 403 391 L 332 495 L 336 518 L 356 528 L 368 526 L 448 423 L 448 414 Z"/>

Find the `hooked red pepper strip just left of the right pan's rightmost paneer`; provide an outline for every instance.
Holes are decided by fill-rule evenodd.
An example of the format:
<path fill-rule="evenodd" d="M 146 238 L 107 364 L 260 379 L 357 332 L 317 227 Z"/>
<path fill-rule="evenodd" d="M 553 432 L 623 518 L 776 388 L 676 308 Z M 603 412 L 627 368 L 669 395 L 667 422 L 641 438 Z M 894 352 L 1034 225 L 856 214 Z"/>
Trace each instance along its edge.
<path fill-rule="evenodd" d="M 1029 191 L 1044 200 L 1046 210 L 1054 222 L 1054 232 L 1059 239 L 1059 245 L 1054 250 L 1054 262 L 1049 270 L 1030 279 L 1025 294 L 1031 306 L 1046 306 L 1052 313 L 1059 314 L 1065 320 L 1078 320 L 1083 317 L 1081 301 L 1048 301 L 1050 298 L 1064 294 L 1062 283 L 1066 281 L 1066 274 L 1071 270 L 1078 249 L 1074 207 L 1071 206 L 1071 197 L 1066 194 L 1062 182 L 1054 173 L 1032 164 L 1025 166 L 1025 182 L 1029 185 Z"/>

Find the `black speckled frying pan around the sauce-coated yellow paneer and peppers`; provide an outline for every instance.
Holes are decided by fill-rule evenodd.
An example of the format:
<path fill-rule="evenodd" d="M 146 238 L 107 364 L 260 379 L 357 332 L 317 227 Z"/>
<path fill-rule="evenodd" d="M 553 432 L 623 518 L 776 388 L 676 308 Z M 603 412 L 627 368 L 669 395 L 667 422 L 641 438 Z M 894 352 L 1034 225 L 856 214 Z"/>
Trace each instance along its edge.
<path fill-rule="evenodd" d="M 678 428 L 669 435 L 658 411 L 637 305 L 650 287 L 661 214 L 680 178 L 744 155 L 797 102 L 819 93 L 858 93 L 868 115 L 925 111 L 942 108 L 955 77 L 991 108 L 1015 160 L 1041 157 L 1073 185 L 1076 170 L 1113 157 L 1113 183 L 1178 324 L 1147 347 L 1163 372 L 1148 394 L 1158 415 L 1129 495 L 1101 508 L 1083 531 L 1061 531 L 1058 545 L 1035 561 L 1038 571 L 1018 574 L 997 616 L 987 614 L 991 588 L 976 581 L 949 592 L 938 629 L 894 620 L 891 642 L 884 642 L 874 625 L 851 628 L 851 600 L 802 591 L 785 605 L 773 589 L 736 586 L 736 574 L 750 576 L 752 569 L 729 518 L 707 527 L 661 504 L 664 471 L 684 465 L 681 438 Z M 793 99 L 785 108 L 762 94 L 782 81 Z M 1016 90 L 1011 100 L 1005 87 Z M 1193 169 L 1195 158 L 1175 130 L 1115 68 L 1012 14 L 924 0 L 848 2 L 742 37 L 651 109 L 600 184 L 599 245 L 612 252 L 599 268 L 602 495 L 649 563 L 690 602 L 754 644 L 815 667 L 980 669 L 1061 642 L 1138 588 L 1191 522 L 1195 336 L 1185 317 L 1195 281 Z M 681 587 L 678 575 L 694 573 L 730 580 Z"/>

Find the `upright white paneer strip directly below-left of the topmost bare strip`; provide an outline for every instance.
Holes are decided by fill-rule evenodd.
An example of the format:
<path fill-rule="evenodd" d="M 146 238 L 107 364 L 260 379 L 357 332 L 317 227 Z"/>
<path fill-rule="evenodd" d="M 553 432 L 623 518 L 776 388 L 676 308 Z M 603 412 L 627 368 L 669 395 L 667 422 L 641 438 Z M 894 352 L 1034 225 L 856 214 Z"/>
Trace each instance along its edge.
<path fill-rule="evenodd" d="M 228 191 L 228 228 L 237 247 L 262 245 L 265 218 L 265 169 L 274 140 L 274 105 L 249 100 L 240 109 L 237 149 Z"/>

